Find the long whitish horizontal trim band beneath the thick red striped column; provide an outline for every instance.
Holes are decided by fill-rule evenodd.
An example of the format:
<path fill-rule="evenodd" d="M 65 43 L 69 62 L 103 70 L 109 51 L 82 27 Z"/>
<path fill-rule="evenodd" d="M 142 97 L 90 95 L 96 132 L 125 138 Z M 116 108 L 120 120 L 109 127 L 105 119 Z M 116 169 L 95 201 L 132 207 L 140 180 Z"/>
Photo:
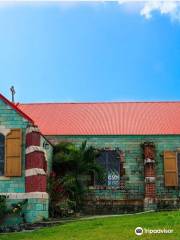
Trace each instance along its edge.
<path fill-rule="evenodd" d="M 46 192 L 0 193 L 0 195 L 7 196 L 8 199 L 31 199 L 31 198 L 48 199 L 49 198 L 49 195 Z"/>

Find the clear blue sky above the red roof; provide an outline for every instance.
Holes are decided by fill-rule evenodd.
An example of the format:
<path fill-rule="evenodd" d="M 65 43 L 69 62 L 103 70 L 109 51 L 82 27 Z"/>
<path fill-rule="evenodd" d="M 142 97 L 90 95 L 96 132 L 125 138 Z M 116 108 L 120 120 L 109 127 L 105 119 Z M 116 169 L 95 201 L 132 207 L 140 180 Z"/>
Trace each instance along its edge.
<path fill-rule="evenodd" d="M 180 22 L 114 3 L 0 5 L 0 92 L 19 102 L 180 100 Z"/>

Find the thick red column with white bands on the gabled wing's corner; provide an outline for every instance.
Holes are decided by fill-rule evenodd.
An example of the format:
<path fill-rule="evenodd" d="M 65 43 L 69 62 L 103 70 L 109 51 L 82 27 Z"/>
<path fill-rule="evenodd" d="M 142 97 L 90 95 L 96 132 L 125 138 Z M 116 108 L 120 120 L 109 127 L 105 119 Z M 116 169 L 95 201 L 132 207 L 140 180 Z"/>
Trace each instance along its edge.
<path fill-rule="evenodd" d="M 45 193 L 47 191 L 47 159 L 40 142 L 41 134 L 38 127 L 29 126 L 26 131 L 26 193 Z"/>

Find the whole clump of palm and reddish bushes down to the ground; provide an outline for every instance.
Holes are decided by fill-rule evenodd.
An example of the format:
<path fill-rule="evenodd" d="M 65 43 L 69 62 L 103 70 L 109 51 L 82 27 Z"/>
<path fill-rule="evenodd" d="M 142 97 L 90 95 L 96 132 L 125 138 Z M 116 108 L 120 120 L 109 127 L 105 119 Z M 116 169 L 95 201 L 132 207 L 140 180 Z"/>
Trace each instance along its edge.
<path fill-rule="evenodd" d="M 99 152 L 87 146 L 86 141 L 80 147 L 69 142 L 55 146 L 53 173 L 49 178 L 51 216 L 63 215 L 63 209 L 72 213 L 83 208 L 90 178 L 102 175 L 102 168 L 96 162 L 98 156 Z"/>

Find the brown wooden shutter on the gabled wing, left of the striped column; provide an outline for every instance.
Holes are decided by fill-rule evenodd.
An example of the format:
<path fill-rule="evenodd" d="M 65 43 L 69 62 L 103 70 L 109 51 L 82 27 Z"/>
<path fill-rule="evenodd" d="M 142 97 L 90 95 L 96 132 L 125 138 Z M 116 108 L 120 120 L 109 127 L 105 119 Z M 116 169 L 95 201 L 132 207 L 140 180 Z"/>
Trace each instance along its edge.
<path fill-rule="evenodd" d="M 5 176 L 21 176 L 22 130 L 11 129 L 6 136 Z"/>

